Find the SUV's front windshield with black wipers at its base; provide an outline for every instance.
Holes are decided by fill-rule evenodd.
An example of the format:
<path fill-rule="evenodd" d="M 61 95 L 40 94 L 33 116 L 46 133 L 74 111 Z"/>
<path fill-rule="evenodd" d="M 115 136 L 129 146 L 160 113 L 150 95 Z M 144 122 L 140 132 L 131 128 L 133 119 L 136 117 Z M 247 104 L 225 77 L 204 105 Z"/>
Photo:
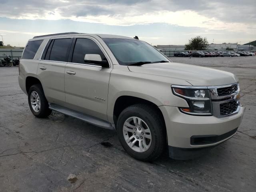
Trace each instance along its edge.
<path fill-rule="evenodd" d="M 120 65 L 170 62 L 146 42 L 130 39 L 102 38 Z"/>

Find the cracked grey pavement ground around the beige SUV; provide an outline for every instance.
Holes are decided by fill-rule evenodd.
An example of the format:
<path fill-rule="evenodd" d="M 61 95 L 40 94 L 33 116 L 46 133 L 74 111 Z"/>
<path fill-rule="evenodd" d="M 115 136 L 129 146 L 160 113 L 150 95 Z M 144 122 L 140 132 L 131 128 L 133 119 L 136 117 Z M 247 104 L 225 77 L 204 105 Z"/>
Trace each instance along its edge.
<path fill-rule="evenodd" d="M 18 85 L 18 67 L 0 68 L 0 192 L 256 190 L 256 56 L 171 58 L 235 73 L 246 107 L 237 134 L 205 156 L 145 163 L 116 133 L 57 112 L 39 119 Z M 200 78 L 200 77 L 198 77 Z"/>

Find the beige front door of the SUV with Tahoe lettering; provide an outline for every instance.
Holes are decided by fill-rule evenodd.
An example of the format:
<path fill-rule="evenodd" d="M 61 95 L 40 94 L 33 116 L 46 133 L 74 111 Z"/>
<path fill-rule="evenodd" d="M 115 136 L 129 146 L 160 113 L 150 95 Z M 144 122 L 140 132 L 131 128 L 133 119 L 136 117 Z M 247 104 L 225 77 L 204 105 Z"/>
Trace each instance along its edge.
<path fill-rule="evenodd" d="M 99 54 L 109 68 L 84 61 L 85 54 Z M 112 64 L 103 46 L 91 36 L 74 38 L 65 69 L 65 93 L 68 108 L 107 120 L 108 83 Z M 110 68 L 111 67 L 111 68 Z"/>

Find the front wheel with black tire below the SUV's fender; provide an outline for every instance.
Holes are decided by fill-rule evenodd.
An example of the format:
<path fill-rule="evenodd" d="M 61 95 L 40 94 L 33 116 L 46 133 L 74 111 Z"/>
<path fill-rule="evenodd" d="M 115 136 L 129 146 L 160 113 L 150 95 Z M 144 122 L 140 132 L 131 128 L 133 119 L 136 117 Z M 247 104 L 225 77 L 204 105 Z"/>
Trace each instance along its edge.
<path fill-rule="evenodd" d="M 138 125 L 138 122 L 134 123 L 134 119 L 140 119 L 138 122 L 141 122 L 137 129 L 135 125 Z M 130 122 L 133 128 L 124 126 L 127 122 Z M 159 113 L 146 104 L 135 104 L 125 108 L 117 120 L 117 133 L 124 150 L 137 160 L 153 161 L 166 148 L 165 124 Z M 151 137 L 150 142 L 148 137 Z M 132 148 L 126 142 L 128 138 L 130 144 L 134 143 Z"/>

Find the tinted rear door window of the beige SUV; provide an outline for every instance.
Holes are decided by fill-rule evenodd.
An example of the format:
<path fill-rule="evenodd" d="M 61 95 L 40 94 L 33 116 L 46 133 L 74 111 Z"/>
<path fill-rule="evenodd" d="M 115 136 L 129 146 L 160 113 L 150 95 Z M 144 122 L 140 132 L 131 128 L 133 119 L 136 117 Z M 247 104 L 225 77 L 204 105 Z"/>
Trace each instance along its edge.
<path fill-rule="evenodd" d="M 70 49 L 71 39 L 55 39 L 52 45 L 52 49 L 48 49 L 50 51 L 49 60 L 52 61 L 68 61 L 68 51 Z M 48 51 L 46 55 L 48 54 Z M 47 58 L 46 58 L 47 60 Z"/>

